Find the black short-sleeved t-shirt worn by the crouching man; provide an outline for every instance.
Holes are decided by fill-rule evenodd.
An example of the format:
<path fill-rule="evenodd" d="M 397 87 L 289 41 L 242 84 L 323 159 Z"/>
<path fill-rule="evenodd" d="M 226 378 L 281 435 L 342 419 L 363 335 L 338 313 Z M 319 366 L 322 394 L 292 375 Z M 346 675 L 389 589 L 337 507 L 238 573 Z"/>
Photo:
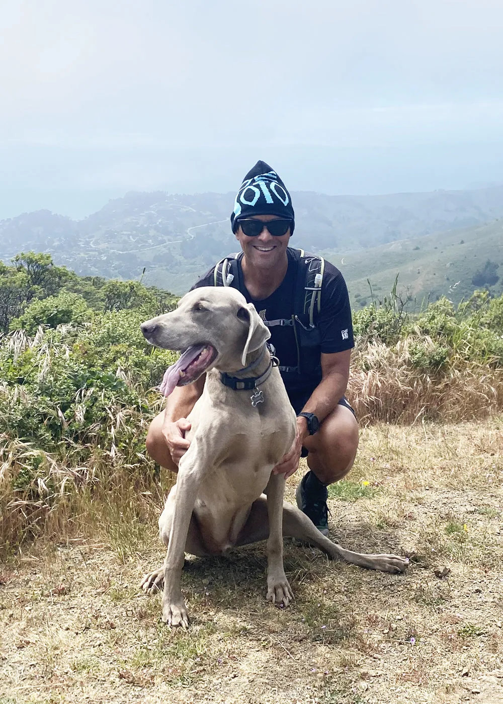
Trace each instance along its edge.
<path fill-rule="evenodd" d="M 297 281 L 300 252 L 298 249 L 287 249 L 288 268 L 285 278 L 271 296 L 260 301 L 252 298 L 244 286 L 241 261 L 238 260 L 237 282 L 232 285 L 239 289 L 247 303 L 253 303 L 257 313 L 263 320 L 279 320 L 292 318 L 294 314 L 294 291 Z M 213 286 L 213 270 L 201 276 L 192 289 L 201 286 Z M 191 289 L 191 290 L 192 290 Z M 346 282 L 341 272 L 330 262 L 325 261 L 323 283 L 321 285 L 321 310 L 318 317 L 318 329 L 321 332 L 321 352 L 330 354 L 342 352 L 354 347 L 351 308 Z M 297 344 L 294 329 L 291 326 L 271 327 L 271 343 L 275 347 L 275 355 L 284 367 L 297 365 Z M 283 375 L 287 391 L 312 391 L 318 385 L 319 378 L 297 375 Z"/>

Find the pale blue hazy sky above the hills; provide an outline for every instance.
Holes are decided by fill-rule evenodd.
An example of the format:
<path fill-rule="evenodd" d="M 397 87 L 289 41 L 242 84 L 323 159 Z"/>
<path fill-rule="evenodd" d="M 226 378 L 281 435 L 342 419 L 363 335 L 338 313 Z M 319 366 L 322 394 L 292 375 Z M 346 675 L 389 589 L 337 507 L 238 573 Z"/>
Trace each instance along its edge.
<path fill-rule="evenodd" d="M 503 183 L 501 0 L 16 0 L 0 218 L 127 191 Z"/>

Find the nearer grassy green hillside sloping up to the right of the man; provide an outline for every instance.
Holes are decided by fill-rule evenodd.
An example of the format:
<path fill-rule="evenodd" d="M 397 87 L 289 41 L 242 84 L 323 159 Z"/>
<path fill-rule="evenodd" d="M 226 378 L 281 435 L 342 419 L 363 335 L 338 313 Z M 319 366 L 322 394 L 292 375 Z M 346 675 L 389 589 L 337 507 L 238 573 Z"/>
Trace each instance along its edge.
<path fill-rule="evenodd" d="M 375 297 L 382 298 L 397 275 L 397 289 L 418 303 L 428 296 L 436 300 L 442 295 L 458 303 L 477 288 L 488 288 L 494 295 L 503 292 L 503 220 L 402 239 L 363 251 L 324 251 L 323 255 L 344 274 L 356 308 L 371 301 L 367 279 Z M 483 283 L 484 279 L 493 282 L 496 278 L 492 285 Z"/>

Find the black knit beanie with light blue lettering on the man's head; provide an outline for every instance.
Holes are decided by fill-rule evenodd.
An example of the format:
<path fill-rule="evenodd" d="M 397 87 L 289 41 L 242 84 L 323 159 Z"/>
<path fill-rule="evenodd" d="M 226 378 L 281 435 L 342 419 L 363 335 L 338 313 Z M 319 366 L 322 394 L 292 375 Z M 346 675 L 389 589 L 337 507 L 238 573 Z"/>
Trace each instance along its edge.
<path fill-rule="evenodd" d="M 278 215 L 278 218 L 292 220 L 290 233 L 293 234 L 292 199 L 278 174 L 265 161 L 257 161 L 237 191 L 234 211 L 230 215 L 232 232 L 237 230 L 237 220 L 251 215 Z"/>

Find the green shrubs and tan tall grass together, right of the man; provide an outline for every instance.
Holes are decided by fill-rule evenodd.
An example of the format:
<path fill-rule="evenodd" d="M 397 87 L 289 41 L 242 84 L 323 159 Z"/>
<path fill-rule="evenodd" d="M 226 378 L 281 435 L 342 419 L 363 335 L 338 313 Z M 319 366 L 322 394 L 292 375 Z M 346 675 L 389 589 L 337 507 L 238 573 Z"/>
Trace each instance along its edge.
<path fill-rule="evenodd" d="M 447 298 L 418 315 L 397 294 L 354 316 L 348 396 L 361 422 L 469 420 L 503 410 L 503 296 Z"/>

